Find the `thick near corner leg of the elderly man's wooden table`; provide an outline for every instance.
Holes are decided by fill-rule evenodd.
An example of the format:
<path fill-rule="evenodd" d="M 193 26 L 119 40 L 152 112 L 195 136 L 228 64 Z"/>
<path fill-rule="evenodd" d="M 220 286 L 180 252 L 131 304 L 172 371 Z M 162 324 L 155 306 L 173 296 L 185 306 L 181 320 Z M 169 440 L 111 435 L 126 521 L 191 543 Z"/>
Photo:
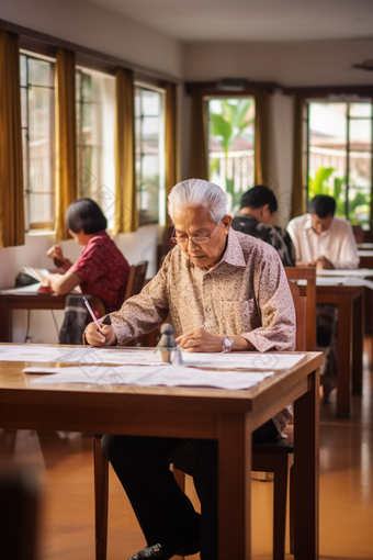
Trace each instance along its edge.
<path fill-rule="evenodd" d="M 251 559 L 251 419 L 222 414 L 218 439 L 219 560 Z"/>

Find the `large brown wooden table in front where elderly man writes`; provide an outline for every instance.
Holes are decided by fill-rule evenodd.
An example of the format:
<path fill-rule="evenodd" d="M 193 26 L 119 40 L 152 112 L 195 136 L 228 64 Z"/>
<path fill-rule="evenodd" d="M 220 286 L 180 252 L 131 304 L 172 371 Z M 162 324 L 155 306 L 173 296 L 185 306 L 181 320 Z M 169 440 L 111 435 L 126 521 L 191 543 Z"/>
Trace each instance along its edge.
<path fill-rule="evenodd" d="M 35 385 L 24 362 L 0 362 L 0 426 L 217 439 L 219 560 L 250 560 L 251 433 L 294 401 L 295 559 L 317 560 L 321 362 L 323 354 L 307 352 L 248 391 Z"/>

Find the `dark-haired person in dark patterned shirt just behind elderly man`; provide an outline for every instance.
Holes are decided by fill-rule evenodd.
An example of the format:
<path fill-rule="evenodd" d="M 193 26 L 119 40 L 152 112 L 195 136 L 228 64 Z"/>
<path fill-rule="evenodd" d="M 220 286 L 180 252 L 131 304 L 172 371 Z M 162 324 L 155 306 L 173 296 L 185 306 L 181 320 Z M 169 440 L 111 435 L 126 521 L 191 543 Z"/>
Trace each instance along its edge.
<path fill-rule="evenodd" d="M 264 184 L 257 184 L 242 194 L 241 210 L 234 217 L 231 227 L 272 245 L 284 267 L 295 267 L 295 250 L 289 233 L 272 225 L 276 210 L 274 192 Z"/>

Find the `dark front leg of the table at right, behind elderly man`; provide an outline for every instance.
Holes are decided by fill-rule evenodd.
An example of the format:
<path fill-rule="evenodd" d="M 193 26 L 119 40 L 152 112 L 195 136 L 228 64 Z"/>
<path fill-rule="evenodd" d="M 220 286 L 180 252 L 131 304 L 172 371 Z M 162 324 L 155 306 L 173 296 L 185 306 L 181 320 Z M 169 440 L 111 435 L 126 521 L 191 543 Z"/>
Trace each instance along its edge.
<path fill-rule="evenodd" d="M 350 417 L 352 301 L 338 295 L 337 417 Z"/>

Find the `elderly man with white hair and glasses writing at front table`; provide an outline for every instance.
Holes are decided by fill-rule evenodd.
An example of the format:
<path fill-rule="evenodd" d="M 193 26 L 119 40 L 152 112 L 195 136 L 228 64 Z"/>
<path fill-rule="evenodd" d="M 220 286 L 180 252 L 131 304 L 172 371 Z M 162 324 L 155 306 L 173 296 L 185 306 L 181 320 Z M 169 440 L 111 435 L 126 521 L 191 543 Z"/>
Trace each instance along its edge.
<path fill-rule="evenodd" d="M 87 343 L 122 345 L 169 316 L 187 351 L 294 350 L 294 305 L 280 257 L 267 243 L 230 228 L 223 190 L 190 179 L 172 189 L 168 208 L 174 248 L 143 291 L 110 314 L 112 325 L 101 333 L 94 323 L 87 327 Z M 274 439 L 291 416 L 291 406 L 279 412 L 253 441 Z M 108 435 L 102 449 L 147 541 L 129 560 L 197 551 L 202 560 L 217 560 L 215 440 Z M 201 516 L 173 479 L 171 462 L 193 477 Z"/>

